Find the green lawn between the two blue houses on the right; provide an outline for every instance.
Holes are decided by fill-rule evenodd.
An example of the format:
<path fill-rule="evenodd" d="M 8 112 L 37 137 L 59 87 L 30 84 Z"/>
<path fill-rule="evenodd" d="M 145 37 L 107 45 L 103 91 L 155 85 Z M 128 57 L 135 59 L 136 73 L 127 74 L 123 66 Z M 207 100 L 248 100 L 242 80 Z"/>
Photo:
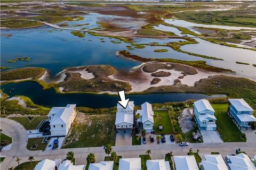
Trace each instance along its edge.
<path fill-rule="evenodd" d="M 224 142 L 245 142 L 241 139 L 242 132 L 227 114 L 228 104 L 212 104 L 217 118 L 217 128 Z"/>

